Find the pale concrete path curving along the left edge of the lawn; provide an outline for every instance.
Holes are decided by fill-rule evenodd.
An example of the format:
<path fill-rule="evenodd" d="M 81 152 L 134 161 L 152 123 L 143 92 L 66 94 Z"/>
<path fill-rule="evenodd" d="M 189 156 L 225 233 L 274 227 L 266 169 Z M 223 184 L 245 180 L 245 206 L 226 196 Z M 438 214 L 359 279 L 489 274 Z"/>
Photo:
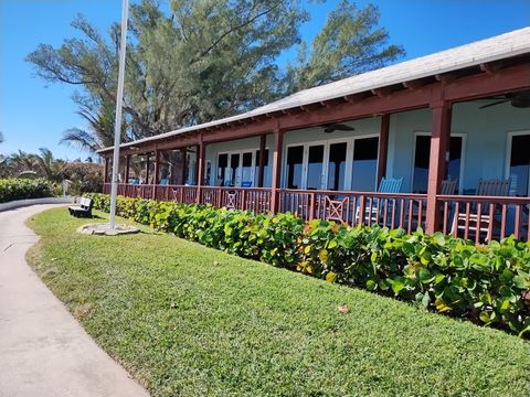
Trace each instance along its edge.
<path fill-rule="evenodd" d="M 147 397 L 25 262 L 39 238 L 23 223 L 53 206 L 0 213 L 0 396 Z"/>

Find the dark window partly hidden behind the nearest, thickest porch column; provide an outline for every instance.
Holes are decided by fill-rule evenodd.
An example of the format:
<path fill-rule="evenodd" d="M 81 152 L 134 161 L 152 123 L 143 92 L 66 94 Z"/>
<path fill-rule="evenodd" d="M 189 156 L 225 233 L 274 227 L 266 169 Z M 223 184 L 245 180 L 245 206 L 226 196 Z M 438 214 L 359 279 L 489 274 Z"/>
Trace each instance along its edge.
<path fill-rule="evenodd" d="M 449 161 L 446 164 L 445 179 L 459 181 L 463 169 L 464 137 L 452 136 L 449 141 Z M 431 158 L 431 136 L 416 135 L 414 153 L 414 174 L 412 178 L 413 193 L 427 193 L 428 163 Z"/>

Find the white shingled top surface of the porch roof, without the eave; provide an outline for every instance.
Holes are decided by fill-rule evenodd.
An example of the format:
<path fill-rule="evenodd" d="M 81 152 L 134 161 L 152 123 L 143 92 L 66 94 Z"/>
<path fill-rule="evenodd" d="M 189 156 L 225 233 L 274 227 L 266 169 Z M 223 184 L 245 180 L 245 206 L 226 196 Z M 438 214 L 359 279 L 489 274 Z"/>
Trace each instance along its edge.
<path fill-rule="evenodd" d="M 186 132 L 210 129 L 212 127 L 251 119 L 257 116 L 265 116 L 272 112 L 318 104 L 336 98 L 343 98 L 378 88 L 389 87 L 395 84 L 403 84 L 430 76 L 436 76 L 527 53 L 530 53 L 530 26 L 411 61 L 401 62 L 395 65 L 382 67 L 360 75 L 354 75 L 330 84 L 304 89 L 241 115 L 180 128 L 174 131 L 124 143 L 120 147 L 137 147 L 139 144 L 152 143 L 158 140 L 167 140 L 168 138 Z M 97 152 L 105 153 L 113 149 L 114 147 L 108 147 L 100 149 Z"/>

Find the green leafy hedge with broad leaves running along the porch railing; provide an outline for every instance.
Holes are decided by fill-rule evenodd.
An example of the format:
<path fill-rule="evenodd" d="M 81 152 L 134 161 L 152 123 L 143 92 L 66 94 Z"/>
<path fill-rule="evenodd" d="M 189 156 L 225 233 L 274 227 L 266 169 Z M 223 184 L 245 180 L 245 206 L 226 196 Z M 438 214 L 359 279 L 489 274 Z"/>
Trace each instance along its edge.
<path fill-rule="evenodd" d="M 109 211 L 108 195 L 89 196 Z M 475 246 L 421 229 L 352 228 L 120 196 L 117 214 L 241 257 L 530 335 L 530 244 L 512 237 Z"/>

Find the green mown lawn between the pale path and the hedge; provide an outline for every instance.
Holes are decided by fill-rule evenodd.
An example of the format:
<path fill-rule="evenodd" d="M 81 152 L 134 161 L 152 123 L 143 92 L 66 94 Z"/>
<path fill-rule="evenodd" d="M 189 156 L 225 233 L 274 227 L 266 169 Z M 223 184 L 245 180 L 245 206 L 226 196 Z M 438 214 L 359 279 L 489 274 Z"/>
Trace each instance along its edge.
<path fill-rule="evenodd" d="M 504 332 L 146 228 L 76 234 L 85 223 L 34 216 L 29 260 L 153 396 L 530 395 L 530 344 Z"/>

